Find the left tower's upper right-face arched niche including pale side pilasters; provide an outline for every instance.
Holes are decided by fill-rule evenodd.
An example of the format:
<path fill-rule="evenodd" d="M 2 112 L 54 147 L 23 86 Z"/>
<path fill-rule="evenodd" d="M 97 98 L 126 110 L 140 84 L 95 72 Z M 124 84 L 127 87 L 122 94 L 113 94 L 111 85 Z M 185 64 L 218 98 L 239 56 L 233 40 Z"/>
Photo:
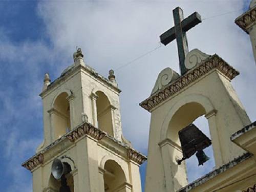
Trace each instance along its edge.
<path fill-rule="evenodd" d="M 101 91 L 92 93 L 93 123 L 102 131 L 114 137 L 114 106 L 108 97 Z"/>

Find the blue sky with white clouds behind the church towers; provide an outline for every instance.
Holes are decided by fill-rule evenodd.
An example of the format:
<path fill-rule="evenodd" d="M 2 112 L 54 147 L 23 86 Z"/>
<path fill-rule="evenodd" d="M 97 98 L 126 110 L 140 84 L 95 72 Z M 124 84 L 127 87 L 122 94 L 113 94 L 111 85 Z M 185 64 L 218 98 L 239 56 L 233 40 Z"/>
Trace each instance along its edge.
<path fill-rule="evenodd" d="M 249 1 L 0 1 L 2 191 L 32 191 L 32 175 L 20 164 L 34 155 L 44 137 L 38 96 L 44 74 L 56 79 L 72 64 L 76 46 L 86 64 L 105 77 L 110 69 L 118 69 L 123 134 L 136 150 L 147 154 L 150 113 L 138 104 L 150 95 L 162 69 L 179 72 L 176 41 L 126 63 L 159 47 L 159 36 L 173 27 L 172 10 L 177 6 L 185 17 L 197 11 L 203 18 L 187 32 L 189 50 L 217 53 L 240 71 L 232 85 L 250 119 L 256 119 L 250 40 L 234 24 Z M 209 136 L 205 119 L 196 123 Z M 195 157 L 187 161 L 190 182 L 214 168 L 211 148 L 205 152 L 211 157 L 205 166 L 198 168 Z M 143 186 L 145 168 L 146 163 L 141 167 Z"/>

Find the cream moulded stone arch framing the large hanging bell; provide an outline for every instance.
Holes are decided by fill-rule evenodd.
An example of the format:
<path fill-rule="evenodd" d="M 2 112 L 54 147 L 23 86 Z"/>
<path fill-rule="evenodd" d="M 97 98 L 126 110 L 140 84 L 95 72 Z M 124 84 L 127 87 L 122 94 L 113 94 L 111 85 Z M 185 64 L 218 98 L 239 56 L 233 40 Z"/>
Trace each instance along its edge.
<path fill-rule="evenodd" d="M 165 178 L 167 181 L 173 180 L 173 184 L 166 184 L 167 190 L 172 190 L 173 187 L 178 190 L 187 184 L 186 165 L 184 161 L 181 165 L 177 164 L 177 160 L 183 157 L 178 131 L 202 115 L 205 115 L 206 118 L 212 115 L 211 123 L 208 119 L 210 132 L 216 130 L 215 113 L 216 110 L 211 101 L 200 94 L 183 97 L 166 113 L 161 126 L 159 146 L 161 147 Z"/>

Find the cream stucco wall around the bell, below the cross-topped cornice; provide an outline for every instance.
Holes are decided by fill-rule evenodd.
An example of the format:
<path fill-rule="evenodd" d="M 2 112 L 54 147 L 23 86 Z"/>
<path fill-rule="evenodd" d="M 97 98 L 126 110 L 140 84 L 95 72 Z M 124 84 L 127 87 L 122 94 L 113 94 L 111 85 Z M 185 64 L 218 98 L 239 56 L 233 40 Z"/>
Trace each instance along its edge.
<path fill-rule="evenodd" d="M 191 105 L 186 109 L 187 115 L 195 113 L 200 116 L 204 112 L 217 167 L 244 153 L 242 148 L 230 141 L 230 135 L 249 124 L 250 120 L 230 80 L 218 70 L 213 70 L 151 111 L 146 192 L 176 191 L 187 184 L 185 164 L 177 165 L 176 162 L 182 157 L 181 148 L 168 136 L 177 137 L 182 127 L 177 130 L 177 127 L 169 127 L 169 123 L 182 106 L 192 102 L 200 104 L 204 110 L 200 112 L 200 108 Z M 197 118 L 197 115 L 189 118 L 185 113 L 183 115 L 180 120 L 186 125 Z"/>

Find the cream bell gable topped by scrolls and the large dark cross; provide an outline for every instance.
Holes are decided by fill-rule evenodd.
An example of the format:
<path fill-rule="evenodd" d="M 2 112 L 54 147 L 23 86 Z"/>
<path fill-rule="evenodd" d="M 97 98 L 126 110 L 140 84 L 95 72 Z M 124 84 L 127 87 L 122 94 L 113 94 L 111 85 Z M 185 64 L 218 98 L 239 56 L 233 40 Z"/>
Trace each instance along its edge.
<path fill-rule="evenodd" d="M 185 191 L 181 188 L 188 181 L 179 133 L 198 117 L 208 121 L 217 168 L 245 153 L 230 136 L 250 123 L 231 85 L 239 72 L 217 54 L 188 51 L 186 32 L 201 22 L 200 15 L 195 12 L 183 19 L 179 7 L 173 13 L 175 26 L 160 39 L 164 45 L 177 39 L 181 74 L 170 68 L 162 70 L 150 97 L 140 103 L 151 113 L 145 192 Z M 198 146 L 193 142 L 198 138 L 195 132 L 190 133 L 183 141 L 190 139 L 186 142 L 194 150 Z M 202 149 L 199 152 L 202 157 Z"/>

